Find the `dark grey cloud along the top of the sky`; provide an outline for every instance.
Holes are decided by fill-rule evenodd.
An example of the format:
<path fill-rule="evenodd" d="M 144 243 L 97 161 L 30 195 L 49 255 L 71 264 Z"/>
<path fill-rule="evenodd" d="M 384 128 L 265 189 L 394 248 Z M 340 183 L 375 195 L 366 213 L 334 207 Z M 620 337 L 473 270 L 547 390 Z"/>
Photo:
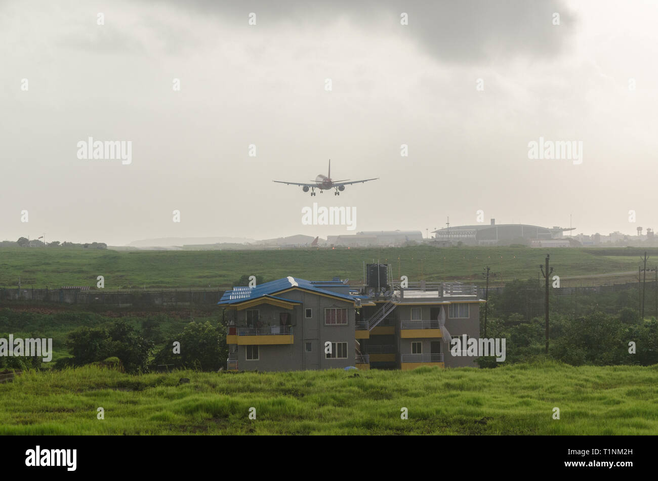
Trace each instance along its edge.
<path fill-rule="evenodd" d="M 345 17 L 376 34 L 410 35 L 432 57 L 455 63 L 555 57 L 569 45 L 577 22 L 575 14 L 560 0 L 191 0 L 184 7 L 178 2 L 171 5 L 245 25 L 249 12 L 257 14 L 261 26 L 278 22 L 309 26 Z M 401 12 L 409 14 L 405 31 L 399 30 Z M 560 14 L 560 26 L 552 24 L 554 12 Z"/>

